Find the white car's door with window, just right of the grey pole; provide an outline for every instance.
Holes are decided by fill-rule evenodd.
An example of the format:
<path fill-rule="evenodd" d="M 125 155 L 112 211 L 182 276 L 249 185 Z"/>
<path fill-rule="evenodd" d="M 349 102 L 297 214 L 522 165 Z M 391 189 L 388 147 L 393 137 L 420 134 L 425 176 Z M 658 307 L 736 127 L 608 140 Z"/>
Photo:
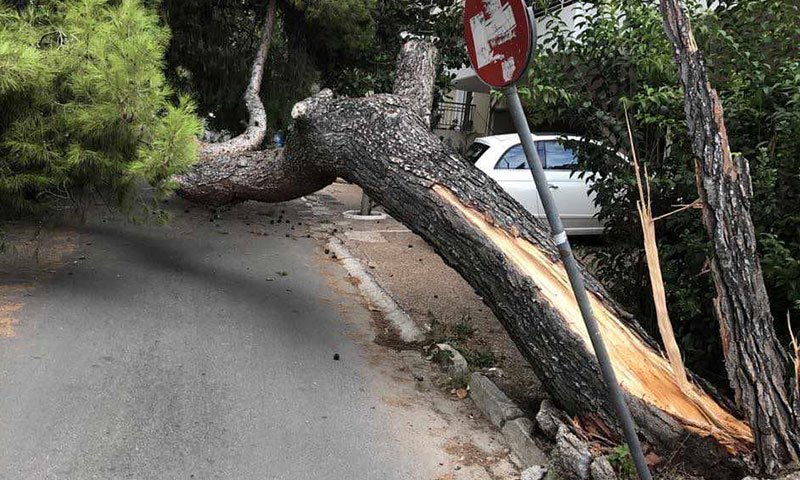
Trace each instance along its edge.
<path fill-rule="evenodd" d="M 594 196 L 589 193 L 583 172 L 573 173 L 578 164 L 575 153 L 558 140 L 541 143 L 544 147 L 545 176 L 564 228 L 570 234 L 601 232 L 602 225 L 595 217 L 597 209 Z"/>

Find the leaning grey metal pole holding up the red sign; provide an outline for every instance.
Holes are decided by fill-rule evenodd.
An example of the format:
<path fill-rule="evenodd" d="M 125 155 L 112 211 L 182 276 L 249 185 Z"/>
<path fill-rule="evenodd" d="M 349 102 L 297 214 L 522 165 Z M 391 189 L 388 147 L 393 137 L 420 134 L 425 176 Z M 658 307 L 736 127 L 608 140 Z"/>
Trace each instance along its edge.
<path fill-rule="evenodd" d="M 650 469 L 647 468 L 647 462 L 644 459 L 639 437 L 636 435 L 636 425 L 633 423 L 633 417 L 631 417 L 631 412 L 628 409 L 628 405 L 625 403 L 625 397 L 622 395 L 622 389 L 614 373 L 614 367 L 611 365 L 608 350 L 603 342 L 603 337 L 600 335 L 600 328 L 597 325 L 597 320 L 594 318 L 592 306 L 589 303 L 589 295 L 586 293 L 586 285 L 583 282 L 583 275 L 578 268 L 578 263 L 575 261 L 575 256 L 572 254 L 572 247 L 570 247 L 567 234 L 564 232 L 561 217 L 559 217 L 558 209 L 553 201 L 553 194 L 550 192 L 550 187 L 547 184 L 544 167 L 542 167 L 541 159 L 539 159 L 539 154 L 536 152 L 531 129 L 528 126 L 528 120 L 525 118 L 525 112 L 522 110 L 522 102 L 520 102 L 516 85 L 506 87 L 505 94 L 508 99 L 509 109 L 511 110 L 511 118 L 514 120 L 514 126 L 517 128 L 517 132 L 519 132 L 519 137 L 522 141 L 522 149 L 525 151 L 525 156 L 528 159 L 528 166 L 531 169 L 533 180 L 536 183 L 536 190 L 539 192 L 539 198 L 542 200 L 542 205 L 547 213 L 547 219 L 550 221 L 553 240 L 558 246 L 561 260 L 564 262 L 567 275 L 569 275 L 572 291 L 575 293 L 578 307 L 583 315 L 583 321 L 586 324 L 586 329 L 589 331 L 589 338 L 592 340 L 592 346 L 594 347 L 595 355 L 597 355 L 597 361 L 600 363 L 600 371 L 608 387 L 611 402 L 614 404 L 614 408 L 617 411 L 617 417 L 622 424 L 622 431 L 625 435 L 625 441 L 628 443 L 628 447 L 631 451 L 633 463 L 636 465 L 636 471 L 639 473 L 640 480 L 652 480 L 653 477 L 650 474 Z"/>

